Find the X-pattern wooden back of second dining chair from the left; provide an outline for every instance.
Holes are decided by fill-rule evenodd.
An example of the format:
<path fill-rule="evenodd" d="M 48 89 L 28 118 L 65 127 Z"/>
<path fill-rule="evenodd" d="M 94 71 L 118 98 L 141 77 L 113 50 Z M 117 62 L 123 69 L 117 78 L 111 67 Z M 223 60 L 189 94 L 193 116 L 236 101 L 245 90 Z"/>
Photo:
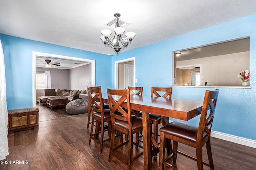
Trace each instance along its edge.
<path fill-rule="evenodd" d="M 116 119 L 128 121 L 131 127 L 131 109 L 129 89 L 107 89 L 112 125 Z"/>

